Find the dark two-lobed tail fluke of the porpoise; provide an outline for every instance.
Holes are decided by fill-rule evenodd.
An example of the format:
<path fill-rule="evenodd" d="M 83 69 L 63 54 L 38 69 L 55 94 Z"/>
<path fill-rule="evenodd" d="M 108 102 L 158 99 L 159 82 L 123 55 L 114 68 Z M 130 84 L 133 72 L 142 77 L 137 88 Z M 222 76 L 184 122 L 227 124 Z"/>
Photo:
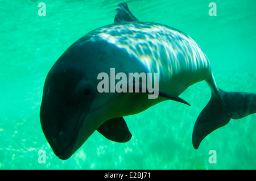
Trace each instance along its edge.
<path fill-rule="evenodd" d="M 197 117 L 192 142 L 195 149 L 215 129 L 223 127 L 232 119 L 241 119 L 256 112 L 256 94 L 249 92 L 226 92 L 218 89 L 212 93 L 207 106 Z"/>

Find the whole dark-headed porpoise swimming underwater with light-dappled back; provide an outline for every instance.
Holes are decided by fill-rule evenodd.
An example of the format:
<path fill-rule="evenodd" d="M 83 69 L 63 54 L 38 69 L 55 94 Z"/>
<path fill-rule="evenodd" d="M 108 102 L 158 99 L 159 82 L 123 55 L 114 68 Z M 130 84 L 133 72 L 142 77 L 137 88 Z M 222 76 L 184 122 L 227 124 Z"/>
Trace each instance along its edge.
<path fill-rule="evenodd" d="M 195 149 L 230 119 L 255 113 L 256 94 L 219 89 L 207 56 L 191 37 L 163 24 L 141 22 L 121 2 L 113 24 L 82 36 L 49 70 L 40 123 L 53 152 L 68 159 L 96 130 L 109 140 L 129 141 L 123 116 L 164 100 L 189 105 L 179 95 L 200 81 L 208 83 L 212 96 L 193 128 Z"/>

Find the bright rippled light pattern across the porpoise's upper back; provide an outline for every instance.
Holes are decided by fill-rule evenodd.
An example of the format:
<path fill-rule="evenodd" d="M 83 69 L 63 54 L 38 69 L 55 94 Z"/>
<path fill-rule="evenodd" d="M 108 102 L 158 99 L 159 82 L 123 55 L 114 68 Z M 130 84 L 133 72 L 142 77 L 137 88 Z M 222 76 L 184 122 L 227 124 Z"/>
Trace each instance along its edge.
<path fill-rule="evenodd" d="M 114 23 L 86 34 L 77 43 L 99 40 L 127 50 L 149 72 L 158 72 L 164 78 L 181 72 L 210 70 L 207 56 L 191 37 L 162 24 Z"/>

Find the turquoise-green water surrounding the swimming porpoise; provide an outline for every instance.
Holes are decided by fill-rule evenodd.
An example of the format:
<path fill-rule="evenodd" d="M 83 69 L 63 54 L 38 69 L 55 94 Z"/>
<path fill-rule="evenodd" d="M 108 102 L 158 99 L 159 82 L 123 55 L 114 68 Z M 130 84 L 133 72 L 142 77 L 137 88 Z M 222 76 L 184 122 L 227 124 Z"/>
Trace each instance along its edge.
<path fill-rule="evenodd" d="M 39 120 L 43 83 L 53 63 L 74 41 L 113 23 L 119 1 L 0 1 L 0 169 L 256 169 L 256 115 L 231 120 L 192 146 L 196 118 L 210 99 L 205 82 L 181 98 L 191 107 L 166 101 L 125 117 L 133 134 L 119 144 L 95 132 L 67 161 L 57 158 Z M 126 1 L 142 21 L 167 24 L 199 43 L 218 87 L 256 92 L 256 2 Z M 46 151 L 46 163 L 38 151 Z M 216 150 L 217 163 L 209 163 Z"/>

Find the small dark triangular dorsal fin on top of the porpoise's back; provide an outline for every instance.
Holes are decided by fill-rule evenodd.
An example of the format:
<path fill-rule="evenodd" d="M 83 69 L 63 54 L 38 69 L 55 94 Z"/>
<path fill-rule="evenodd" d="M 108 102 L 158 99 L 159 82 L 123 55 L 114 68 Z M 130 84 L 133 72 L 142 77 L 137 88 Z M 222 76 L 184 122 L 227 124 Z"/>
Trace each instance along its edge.
<path fill-rule="evenodd" d="M 115 20 L 114 23 L 119 22 L 134 22 L 139 21 L 129 10 L 125 2 L 121 2 L 117 5 L 115 9 Z"/>

